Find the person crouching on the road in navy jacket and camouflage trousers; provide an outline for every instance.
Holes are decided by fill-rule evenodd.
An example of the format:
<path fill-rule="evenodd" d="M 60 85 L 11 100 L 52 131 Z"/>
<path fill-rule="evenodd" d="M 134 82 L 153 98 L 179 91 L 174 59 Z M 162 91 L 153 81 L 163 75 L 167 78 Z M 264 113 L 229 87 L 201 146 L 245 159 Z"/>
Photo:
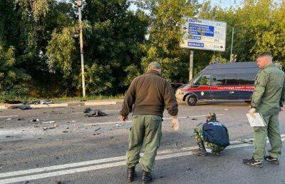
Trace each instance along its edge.
<path fill-rule="evenodd" d="M 199 149 L 194 151 L 194 155 L 206 156 L 206 148 L 212 150 L 212 153 L 219 155 L 229 145 L 227 128 L 217 121 L 215 113 L 207 115 L 207 122 L 203 124 L 202 128 L 194 129 L 194 136 L 199 146 Z"/>

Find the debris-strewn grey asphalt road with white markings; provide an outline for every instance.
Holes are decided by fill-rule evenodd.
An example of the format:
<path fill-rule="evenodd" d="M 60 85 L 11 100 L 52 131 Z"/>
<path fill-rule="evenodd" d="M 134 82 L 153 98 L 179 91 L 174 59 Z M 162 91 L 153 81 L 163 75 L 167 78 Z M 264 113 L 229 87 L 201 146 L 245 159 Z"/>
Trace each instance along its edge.
<path fill-rule="evenodd" d="M 120 105 L 90 106 L 108 113 L 92 118 L 85 117 L 84 108 L 1 110 L 0 183 L 126 183 L 124 155 L 130 122 L 118 123 Z M 253 145 L 237 140 L 252 138 L 245 116 L 248 110 L 241 102 L 180 104 L 177 132 L 171 130 L 165 111 L 154 183 L 285 183 L 284 155 L 280 165 L 264 162 L 264 168 L 252 168 L 242 164 L 242 158 L 249 158 L 253 150 Z M 201 158 L 192 155 L 193 129 L 209 112 L 217 113 L 227 126 L 232 145 L 220 157 Z M 279 120 L 284 134 L 284 111 Z M 55 121 L 56 128 L 48 121 Z M 140 183 L 140 165 L 136 170 L 135 183 Z"/>

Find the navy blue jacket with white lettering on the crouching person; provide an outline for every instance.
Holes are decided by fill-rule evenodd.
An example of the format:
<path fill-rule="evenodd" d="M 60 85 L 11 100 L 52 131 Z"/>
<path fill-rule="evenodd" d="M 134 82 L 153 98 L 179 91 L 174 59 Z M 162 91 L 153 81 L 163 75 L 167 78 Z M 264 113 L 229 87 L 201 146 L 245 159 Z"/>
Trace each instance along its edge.
<path fill-rule="evenodd" d="M 208 143 L 223 146 L 229 145 L 229 133 L 227 128 L 219 121 L 210 120 L 202 126 L 204 140 Z"/>

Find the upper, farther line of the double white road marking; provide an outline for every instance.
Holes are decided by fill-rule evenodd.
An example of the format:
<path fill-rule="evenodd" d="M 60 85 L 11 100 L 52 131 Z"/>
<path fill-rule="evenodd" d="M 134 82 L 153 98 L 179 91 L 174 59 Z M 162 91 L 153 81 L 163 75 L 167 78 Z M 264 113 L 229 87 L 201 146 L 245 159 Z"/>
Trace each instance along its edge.
<path fill-rule="evenodd" d="M 285 134 L 281 135 L 281 138 L 285 137 Z M 252 139 L 247 139 L 247 140 L 252 140 Z M 231 141 L 231 144 L 234 143 L 241 143 L 239 140 L 234 140 Z M 241 144 L 248 144 L 248 143 L 241 143 Z M 251 145 L 251 144 L 248 144 Z M 227 148 L 231 148 L 231 146 L 236 146 L 236 145 L 229 145 Z M 195 150 L 197 149 L 197 146 L 191 146 L 191 147 L 185 147 L 177 150 L 160 150 L 157 151 L 157 158 L 159 158 L 160 155 L 162 154 L 173 154 L 185 150 Z M 142 155 L 142 154 L 140 154 Z M 49 171 L 49 170 L 59 170 L 59 169 L 68 169 L 68 168 L 74 168 L 74 167 L 79 167 L 79 166 L 84 166 L 84 165 L 92 165 L 92 164 L 98 164 L 98 163 L 107 163 L 107 162 L 114 162 L 114 161 L 119 161 L 119 160 L 125 160 L 125 156 L 118 156 L 118 157 L 113 157 L 113 158 L 103 158 L 103 159 L 98 159 L 98 160 L 88 160 L 84 162 L 78 162 L 78 163 L 67 163 L 63 165 L 54 165 L 54 166 L 49 166 L 49 167 L 44 167 L 44 168 L 35 168 L 35 169 L 29 169 L 29 170 L 19 170 L 19 171 L 13 171 L 9 173 L 0 173 L 0 178 L 5 178 L 5 177 L 11 177 L 14 175 L 25 175 L 25 174 L 31 174 L 31 173 L 40 173 L 44 171 Z"/>

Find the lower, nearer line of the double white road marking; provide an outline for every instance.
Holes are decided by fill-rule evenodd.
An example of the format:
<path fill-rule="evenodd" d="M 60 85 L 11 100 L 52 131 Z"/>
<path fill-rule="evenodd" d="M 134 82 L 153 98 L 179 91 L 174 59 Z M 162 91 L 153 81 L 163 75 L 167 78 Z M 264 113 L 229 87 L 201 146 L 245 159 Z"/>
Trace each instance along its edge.
<path fill-rule="evenodd" d="M 282 141 L 285 140 L 285 138 L 281 139 Z M 269 141 L 267 141 L 269 142 Z M 244 147 L 249 147 L 252 146 L 251 144 L 247 143 L 242 143 L 238 145 L 229 145 L 227 149 L 233 149 L 233 148 L 244 148 Z M 181 156 L 187 156 L 187 155 L 193 155 L 192 151 L 188 152 L 182 152 L 182 153 L 172 153 L 168 155 L 158 155 L 156 157 L 156 160 L 162 160 L 162 159 L 167 159 L 167 158 L 177 158 Z M 43 173 L 43 174 L 38 174 L 38 175 L 27 175 L 27 176 L 22 176 L 18 178 L 9 178 L 5 180 L 0 180 L 0 183 L 16 183 L 16 182 L 21 182 L 21 181 L 26 181 L 26 180 L 37 180 L 40 178 L 49 178 L 57 175 L 67 175 L 67 174 L 72 174 L 72 173 L 81 173 L 81 172 L 86 172 L 90 170 L 98 170 L 98 169 L 103 169 L 103 168 L 113 168 L 117 166 L 122 166 L 125 165 L 125 161 L 120 161 L 120 162 L 115 162 L 115 163 L 104 163 L 101 165 L 93 165 L 93 166 L 88 166 L 88 167 L 83 167 L 83 168 L 74 168 L 74 169 L 68 169 L 68 170 L 59 170 L 51 173 Z"/>

